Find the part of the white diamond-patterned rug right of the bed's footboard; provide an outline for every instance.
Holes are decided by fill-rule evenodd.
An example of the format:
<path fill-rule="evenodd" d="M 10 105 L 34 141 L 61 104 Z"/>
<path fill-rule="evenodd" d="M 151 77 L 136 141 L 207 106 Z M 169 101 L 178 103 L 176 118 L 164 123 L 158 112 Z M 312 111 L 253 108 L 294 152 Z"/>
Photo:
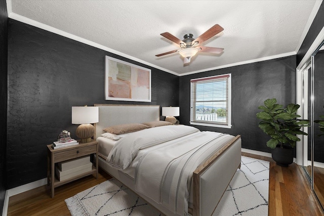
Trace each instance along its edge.
<path fill-rule="evenodd" d="M 213 216 L 268 215 L 270 162 L 241 157 L 237 169 Z"/>

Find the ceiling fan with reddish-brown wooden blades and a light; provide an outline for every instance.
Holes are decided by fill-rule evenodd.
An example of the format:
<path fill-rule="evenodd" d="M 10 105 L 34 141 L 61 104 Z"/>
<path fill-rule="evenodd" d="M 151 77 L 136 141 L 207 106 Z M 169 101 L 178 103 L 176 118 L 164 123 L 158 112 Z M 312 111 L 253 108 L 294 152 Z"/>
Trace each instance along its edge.
<path fill-rule="evenodd" d="M 167 39 L 175 42 L 180 46 L 180 49 L 173 50 L 167 53 L 161 53 L 158 55 L 155 55 L 156 57 L 164 56 L 172 53 L 179 52 L 181 56 L 183 56 L 183 64 L 189 63 L 192 56 L 196 55 L 198 52 L 204 52 L 204 53 L 216 53 L 219 54 L 223 52 L 223 48 L 216 48 L 216 47 L 202 47 L 200 46 L 208 40 L 209 38 L 215 36 L 216 34 L 222 32 L 224 28 L 222 28 L 220 25 L 216 24 L 210 29 L 208 29 L 205 33 L 201 34 L 196 39 L 193 38 L 193 35 L 188 33 L 183 36 L 183 40 L 180 40 L 176 36 L 170 34 L 169 32 L 161 33 L 160 35 L 166 37 Z"/>

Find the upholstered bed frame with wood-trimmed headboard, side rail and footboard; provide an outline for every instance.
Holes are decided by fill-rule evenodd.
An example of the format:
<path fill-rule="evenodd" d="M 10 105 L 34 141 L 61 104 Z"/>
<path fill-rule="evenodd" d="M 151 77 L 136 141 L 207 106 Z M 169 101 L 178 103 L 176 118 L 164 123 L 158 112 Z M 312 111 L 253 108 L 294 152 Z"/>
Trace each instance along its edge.
<path fill-rule="evenodd" d="M 95 138 L 103 133 L 103 128 L 111 125 L 143 123 L 160 119 L 160 107 L 155 105 L 95 104 L 95 106 L 99 107 L 99 122 L 95 124 Z M 194 216 L 205 216 L 214 212 L 237 168 L 240 168 L 240 157 L 241 139 L 238 135 L 194 170 L 193 202 L 192 208 L 188 208 L 188 213 Z M 98 161 L 99 166 L 109 175 L 137 193 L 131 178 L 109 165 L 104 158 L 100 157 L 100 154 Z M 144 194 L 137 194 L 166 215 L 175 215 Z"/>

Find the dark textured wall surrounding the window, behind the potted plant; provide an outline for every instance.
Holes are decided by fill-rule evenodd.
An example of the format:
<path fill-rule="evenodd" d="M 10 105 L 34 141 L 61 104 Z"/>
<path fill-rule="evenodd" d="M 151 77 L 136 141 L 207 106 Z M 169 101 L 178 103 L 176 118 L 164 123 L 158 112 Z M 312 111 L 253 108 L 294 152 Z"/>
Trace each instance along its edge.
<path fill-rule="evenodd" d="M 270 138 L 258 127 L 256 113 L 268 98 L 284 105 L 296 103 L 296 56 L 180 76 L 181 124 L 190 121 L 190 79 L 227 73 L 232 76 L 232 127 L 194 126 L 201 131 L 241 135 L 242 148 L 270 152 L 266 146 Z"/>

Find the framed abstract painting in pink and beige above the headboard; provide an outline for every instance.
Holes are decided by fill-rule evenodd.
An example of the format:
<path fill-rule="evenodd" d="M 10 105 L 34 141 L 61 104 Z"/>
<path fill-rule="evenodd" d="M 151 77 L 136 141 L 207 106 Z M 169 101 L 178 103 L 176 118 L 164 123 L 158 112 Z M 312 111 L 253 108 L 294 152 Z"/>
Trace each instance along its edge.
<path fill-rule="evenodd" d="M 151 102 L 151 70 L 106 56 L 105 99 Z"/>

